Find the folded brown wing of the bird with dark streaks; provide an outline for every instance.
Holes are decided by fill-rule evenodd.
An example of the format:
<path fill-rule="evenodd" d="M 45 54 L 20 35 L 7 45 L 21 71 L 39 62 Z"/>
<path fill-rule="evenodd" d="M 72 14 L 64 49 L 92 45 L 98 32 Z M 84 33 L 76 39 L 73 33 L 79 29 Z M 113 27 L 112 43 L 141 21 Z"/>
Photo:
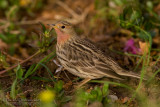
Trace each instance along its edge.
<path fill-rule="evenodd" d="M 84 41 L 83 41 L 84 42 Z M 99 56 L 100 50 L 86 42 L 85 44 L 69 44 L 67 59 L 77 69 L 88 73 L 120 79 L 120 76 L 111 69 L 103 57 Z M 90 46 L 88 46 L 90 45 Z"/>

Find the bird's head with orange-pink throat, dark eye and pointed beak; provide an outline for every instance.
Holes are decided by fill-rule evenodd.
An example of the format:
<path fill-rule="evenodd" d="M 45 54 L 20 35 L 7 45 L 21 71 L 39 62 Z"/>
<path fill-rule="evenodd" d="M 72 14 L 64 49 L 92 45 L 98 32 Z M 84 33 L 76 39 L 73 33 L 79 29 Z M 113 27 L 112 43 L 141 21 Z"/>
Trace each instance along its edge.
<path fill-rule="evenodd" d="M 49 24 L 49 25 L 55 29 L 57 33 L 57 42 L 59 44 L 65 43 L 70 38 L 76 36 L 72 24 L 70 24 L 67 21 L 59 21 L 55 24 Z"/>

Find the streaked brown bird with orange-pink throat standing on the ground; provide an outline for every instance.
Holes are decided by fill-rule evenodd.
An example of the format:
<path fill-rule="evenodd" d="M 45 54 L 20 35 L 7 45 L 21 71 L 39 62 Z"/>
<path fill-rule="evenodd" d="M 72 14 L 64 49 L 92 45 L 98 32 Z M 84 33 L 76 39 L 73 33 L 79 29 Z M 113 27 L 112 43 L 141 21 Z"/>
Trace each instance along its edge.
<path fill-rule="evenodd" d="M 92 79 L 103 77 L 118 80 L 124 76 L 140 78 L 139 74 L 120 67 L 93 42 L 82 39 L 71 23 L 58 21 L 49 25 L 57 34 L 56 55 L 60 64 L 73 75 L 84 78 L 79 87 Z"/>

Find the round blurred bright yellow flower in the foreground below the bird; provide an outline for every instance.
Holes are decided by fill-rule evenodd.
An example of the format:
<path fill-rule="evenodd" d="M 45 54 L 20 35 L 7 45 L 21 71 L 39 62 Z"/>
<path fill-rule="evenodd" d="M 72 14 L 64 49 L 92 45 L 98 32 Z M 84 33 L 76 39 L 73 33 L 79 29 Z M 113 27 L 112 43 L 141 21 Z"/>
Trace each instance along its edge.
<path fill-rule="evenodd" d="M 39 94 L 39 98 L 44 103 L 50 103 L 54 100 L 55 93 L 51 90 L 45 90 Z"/>

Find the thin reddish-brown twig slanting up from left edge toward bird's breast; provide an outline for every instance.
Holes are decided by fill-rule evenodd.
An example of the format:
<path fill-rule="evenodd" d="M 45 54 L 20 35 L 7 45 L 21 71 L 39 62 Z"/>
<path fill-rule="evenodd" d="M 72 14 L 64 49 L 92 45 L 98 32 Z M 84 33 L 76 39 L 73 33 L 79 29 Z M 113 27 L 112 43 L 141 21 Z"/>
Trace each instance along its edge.
<path fill-rule="evenodd" d="M 7 72 L 7 71 L 9 71 L 9 70 L 14 69 L 14 68 L 17 67 L 18 65 L 21 65 L 21 64 L 27 62 L 28 60 L 32 59 L 33 57 L 35 57 L 35 56 L 38 55 L 39 53 L 40 53 L 40 51 L 37 51 L 35 54 L 33 54 L 33 55 L 30 56 L 29 58 L 21 61 L 19 64 L 13 65 L 12 67 L 10 67 L 10 68 L 8 68 L 8 69 L 6 69 L 6 70 L 1 71 L 1 72 L 0 72 L 0 75 L 3 74 L 3 73 L 5 73 L 5 72 Z"/>

